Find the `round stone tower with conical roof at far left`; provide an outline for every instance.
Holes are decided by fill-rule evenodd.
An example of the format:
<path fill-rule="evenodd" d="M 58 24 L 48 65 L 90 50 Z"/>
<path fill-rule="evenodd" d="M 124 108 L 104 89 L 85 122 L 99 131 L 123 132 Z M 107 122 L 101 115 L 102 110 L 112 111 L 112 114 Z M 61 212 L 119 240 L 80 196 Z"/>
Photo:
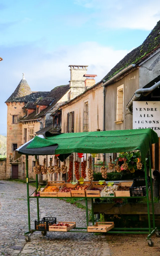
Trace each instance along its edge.
<path fill-rule="evenodd" d="M 32 91 L 24 78 L 19 82 L 12 95 L 5 101 L 7 104 L 7 178 L 25 178 L 22 159 L 13 162 L 14 151 L 22 145 L 22 123 L 18 120 L 24 115 L 23 106 L 26 104 L 27 95 Z M 20 157 L 22 158 L 22 156 Z"/>

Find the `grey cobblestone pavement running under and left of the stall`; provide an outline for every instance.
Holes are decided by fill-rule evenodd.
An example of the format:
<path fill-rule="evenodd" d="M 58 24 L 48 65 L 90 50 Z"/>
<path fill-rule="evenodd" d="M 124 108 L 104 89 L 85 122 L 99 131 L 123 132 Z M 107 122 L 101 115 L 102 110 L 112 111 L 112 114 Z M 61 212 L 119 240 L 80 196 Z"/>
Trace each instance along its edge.
<path fill-rule="evenodd" d="M 30 194 L 34 187 L 29 186 Z M 111 255 L 105 236 L 94 233 L 36 231 L 31 242 L 23 234 L 28 230 L 26 184 L 0 181 L 0 255 L 6 256 L 108 256 Z M 86 226 L 86 211 L 63 200 L 41 198 L 40 218 L 57 217 L 57 221 L 76 221 L 76 226 Z M 30 200 L 31 228 L 37 219 L 36 199 Z"/>

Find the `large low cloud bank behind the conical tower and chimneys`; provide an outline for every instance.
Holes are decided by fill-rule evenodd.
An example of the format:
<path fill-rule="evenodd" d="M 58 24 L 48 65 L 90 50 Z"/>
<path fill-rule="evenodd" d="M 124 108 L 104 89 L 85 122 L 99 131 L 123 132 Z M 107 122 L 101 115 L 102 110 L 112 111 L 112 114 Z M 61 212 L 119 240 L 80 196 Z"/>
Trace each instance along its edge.
<path fill-rule="evenodd" d="M 97 42 L 84 42 L 51 52 L 31 46 L 2 48 L 2 52 L 0 133 L 6 132 L 7 108 L 4 102 L 17 87 L 23 72 L 32 91 L 50 91 L 55 86 L 68 84 L 68 65 L 88 65 L 87 72 L 97 74 L 96 82 L 99 82 L 128 53 L 127 50 L 114 50 Z"/>

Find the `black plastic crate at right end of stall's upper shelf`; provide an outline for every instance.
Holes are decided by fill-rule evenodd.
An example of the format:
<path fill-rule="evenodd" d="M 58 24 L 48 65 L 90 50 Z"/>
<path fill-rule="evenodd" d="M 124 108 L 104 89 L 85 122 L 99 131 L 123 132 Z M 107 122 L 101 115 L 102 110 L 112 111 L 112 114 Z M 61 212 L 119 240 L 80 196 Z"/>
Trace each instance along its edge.
<path fill-rule="evenodd" d="M 147 177 L 147 185 L 149 187 L 149 177 Z M 134 178 L 130 187 L 130 196 L 146 196 L 145 178 Z"/>

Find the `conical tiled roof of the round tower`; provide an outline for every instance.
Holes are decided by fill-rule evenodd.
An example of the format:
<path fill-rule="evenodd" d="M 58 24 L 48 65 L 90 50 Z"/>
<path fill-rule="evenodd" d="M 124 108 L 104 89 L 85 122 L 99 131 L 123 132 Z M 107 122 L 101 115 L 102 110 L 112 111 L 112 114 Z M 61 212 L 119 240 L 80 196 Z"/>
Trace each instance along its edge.
<path fill-rule="evenodd" d="M 12 95 L 8 98 L 8 100 L 5 101 L 6 102 L 14 102 L 14 101 L 21 101 L 21 100 L 17 100 L 28 95 L 28 94 L 31 94 L 32 91 L 26 81 L 26 79 L 22 79 L 17 88 L 15 89 L 15 91 L 12 93 Z M 22 101 L 21 101 L 22 102 Z"/>

